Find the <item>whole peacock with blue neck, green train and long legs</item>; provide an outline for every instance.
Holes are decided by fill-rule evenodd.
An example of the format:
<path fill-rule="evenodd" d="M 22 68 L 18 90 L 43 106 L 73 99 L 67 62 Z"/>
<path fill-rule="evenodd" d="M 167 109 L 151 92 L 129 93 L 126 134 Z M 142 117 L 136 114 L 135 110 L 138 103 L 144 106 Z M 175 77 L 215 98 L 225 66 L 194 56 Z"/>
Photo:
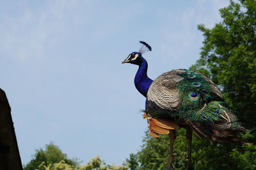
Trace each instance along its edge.
<path fill-rule="evenodd" d="M 173 69 L 161 74 L 156 80 L 147 76 L 147 60 L 142 53 L 151 51 L 150 45 L 140 41 L 139 52 L 129 54 L 124 63 L 139 66 L 134 78 L 136 89 L 146 97 L 144 118 L 147 119 L 150 135 L 168 134 L 170 157 L 166 169 L 173 169 L 173 143 L 175 131 L 186 128 L 188 141 L 188 166 L 191 161 L 192 132 L 196 136 L 216 142 L 236 141 L 248 145 L 237 137 L 238 132 L 247 132 L 225 103 L 218 87 L 206 76 L 189 69 Z"/>

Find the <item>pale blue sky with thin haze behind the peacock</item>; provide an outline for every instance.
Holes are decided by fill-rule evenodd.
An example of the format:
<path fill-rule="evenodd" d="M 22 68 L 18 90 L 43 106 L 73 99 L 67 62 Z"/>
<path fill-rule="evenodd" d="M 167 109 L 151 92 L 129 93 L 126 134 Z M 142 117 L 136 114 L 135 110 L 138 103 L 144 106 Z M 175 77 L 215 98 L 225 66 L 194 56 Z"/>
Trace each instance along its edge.
<path fill-rule="evenodd" d="M 6 92 L 22 164 L 51 141 L 86 164 L 100 155 L 121 164 L 140 150 L 145 97 L 134 87 L 144 53 L 148 77 L 188 69 L 207 28 L 228 0 L 0 0 L 0 88 Z"/>

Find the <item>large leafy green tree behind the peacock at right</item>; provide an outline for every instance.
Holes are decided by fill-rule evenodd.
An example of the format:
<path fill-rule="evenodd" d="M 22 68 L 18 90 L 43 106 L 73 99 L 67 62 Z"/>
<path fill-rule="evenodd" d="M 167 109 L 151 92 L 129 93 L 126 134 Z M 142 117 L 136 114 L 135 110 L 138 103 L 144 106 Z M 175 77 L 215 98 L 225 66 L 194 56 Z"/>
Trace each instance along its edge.
<path fill-rule="evenodd" d="M 204 33 L 200 59 L 191 66 L 216 83 L 239 120 L 256 121 L 256 1 L 230 1 L 220 10 L 223 18 L 212 29 L 198 25 Z M 246 125 L 246 124 L 244 124 Z M 254 124 L 249 124 L 253 125 Z M 256 141 L 255 136 L 241 137 Z M 212 143 L 193 135 L 192 159 L 195 169 L 255 169 L 256 146 Z M 179 130 L 174 144 L 175 169 L 186 169 L 186 139 Z M 148 132 L 136 154 L 138 169 L 164 169 L 169 155 L 168 136 L 152 138 Z"/>

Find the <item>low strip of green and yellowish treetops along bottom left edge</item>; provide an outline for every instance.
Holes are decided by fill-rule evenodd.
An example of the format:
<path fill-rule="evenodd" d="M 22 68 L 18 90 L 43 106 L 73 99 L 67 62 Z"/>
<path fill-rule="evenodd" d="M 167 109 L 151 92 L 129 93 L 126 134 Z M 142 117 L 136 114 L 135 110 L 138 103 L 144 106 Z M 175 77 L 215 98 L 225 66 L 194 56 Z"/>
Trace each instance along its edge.
<path fill-rule="evenodd" d="M 132 164 L 136 166 L 136 162 Z M 45 145 L 45 150 L 42 148 L 36 150 L 33 159 L 24 166 L 24 170 L 128 170 L 128 166 L 126 162 L 118 166 L 115 166 L 115 164 L 107 165 L 99 156 L 81 166 L 76 159 L 68 159 L 67 155 L 62 153 L 58 146 L 50 143 Z"/>

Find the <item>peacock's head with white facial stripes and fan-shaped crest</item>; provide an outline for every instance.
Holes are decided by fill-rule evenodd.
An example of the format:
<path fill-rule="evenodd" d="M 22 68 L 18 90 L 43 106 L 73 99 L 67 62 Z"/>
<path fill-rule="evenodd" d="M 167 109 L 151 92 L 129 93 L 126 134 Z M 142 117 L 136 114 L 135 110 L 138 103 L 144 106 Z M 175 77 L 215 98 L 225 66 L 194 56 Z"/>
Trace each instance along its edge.
<path fill-rule="evenodd" d="M 144 41 L 140 41 L 140 43 L 142 44 L 142 46 L 141 46 L 139 52 L 130 53 L 129 56 L 127 57 L 127 59 L 125 59 L 122 62 L 122 64 L 131 63 L 131 64 L 136 64 L 136 65 L 140 66 L 141 62 L 143 61 L 143 57 L 141 54 L 152 50 L 151 46 L 148 45 L 147 43 L 145 43 Z"/>

